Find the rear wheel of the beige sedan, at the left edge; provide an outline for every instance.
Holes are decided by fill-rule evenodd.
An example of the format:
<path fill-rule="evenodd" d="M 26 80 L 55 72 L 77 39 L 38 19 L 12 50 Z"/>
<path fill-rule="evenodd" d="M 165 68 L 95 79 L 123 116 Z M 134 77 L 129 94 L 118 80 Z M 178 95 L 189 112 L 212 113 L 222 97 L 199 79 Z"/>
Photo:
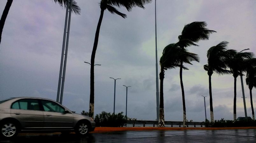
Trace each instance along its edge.
<path fill-rule="evenodd" d="M 3 138 L 13 138 L 18 134 L 18 124 L 14 121 L 5 121 L 1 124 L 1 135 Z"/>

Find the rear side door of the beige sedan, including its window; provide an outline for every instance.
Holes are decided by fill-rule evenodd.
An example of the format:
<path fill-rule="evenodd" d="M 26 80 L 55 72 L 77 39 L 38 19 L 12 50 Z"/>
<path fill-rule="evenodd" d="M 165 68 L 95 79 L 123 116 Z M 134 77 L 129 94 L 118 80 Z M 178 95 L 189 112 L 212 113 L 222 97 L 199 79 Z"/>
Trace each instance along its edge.
<path fill-rule="evenodd" d="M 44 127 L 44 113 L 37 99 L 20 99 L 11 105 L 11 116 L 20 121 L 25 130 Z"/>

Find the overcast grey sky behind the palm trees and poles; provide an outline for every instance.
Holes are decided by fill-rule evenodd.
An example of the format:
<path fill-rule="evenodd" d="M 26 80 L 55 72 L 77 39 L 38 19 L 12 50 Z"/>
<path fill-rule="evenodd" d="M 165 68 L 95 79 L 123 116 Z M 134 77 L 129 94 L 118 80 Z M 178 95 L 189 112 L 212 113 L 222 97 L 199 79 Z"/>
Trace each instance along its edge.
<path fill-rule="evenodd" d="M 0 0 L 0 14 L 7 0 Z M 80 113 L 89 110 L 90 62 L 96 26 L 100 16 L 100 0 L 76 0 L 81 15 L 71 16 L 68 60 L 63 105 Z M 255 0 L 158 0 L 158 61 L 162 50 L 178 41 L 184 25 L 207 22 L 210 39 L 199 47 L 188 47 L 200 57 L 200 63 L 187 65 L 183 71 L 187 120 L 204 121 L 206 97 L 210 119 L 207 50 L 228 41 L 229 49 L 255 53 Z M 113 112 L 114 80 L 116 109 L 124 112 L 128 88 L 127 116 L 137 120 L 156 119 L 155 21 L 154 0 L 145 9 L 132 12 L 119 9 L 127 18 L 104 12 L 96 51 L 95 114 Z M 52 0 L 14 0 L 5 21 L 0 45 L 0 99 L 18 96 L 56 100 L 66 10 Z M 245 81 L 245 77 L 244 77 Z M 250 95 L 245 84 L 247 115 L 252 117 Z M 233 119 L 234 78 L 212 76 L 214 119 Z M 256 107 L 256 90 L 252 90 Z M 237 78 L 237 117 L 245 116 L 241 82 Z M 182 97 L 179 69 L 167 70 L 164 78 L 164 111 L 166 121 L 182 121 Z"/>

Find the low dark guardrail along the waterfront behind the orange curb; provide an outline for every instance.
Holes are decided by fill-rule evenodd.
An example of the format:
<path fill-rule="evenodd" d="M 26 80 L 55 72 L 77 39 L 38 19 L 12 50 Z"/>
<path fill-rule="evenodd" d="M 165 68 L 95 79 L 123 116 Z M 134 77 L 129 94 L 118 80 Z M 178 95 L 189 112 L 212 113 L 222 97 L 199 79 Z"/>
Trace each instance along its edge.
<path fill-rule="evenodd" d="M 143 127 L 145 127 L 146 125 L 152 125 L 153 127 L 156 127 L 158 124 L 158 121 L 141 121 L 141 120 L 128 120 L 127 124 L 132 124 L 132 127 L 135 127 L 135 125 L 139 124 L 143 124 Z M 183 122 L 180 121 L 165 121 L 165 125 L 171 125 L 171 127 L 173 127 L 174 125 L 179 125 L 179 127 L 181 127 L 183 125 Z M 189 127 L 189 125 L 196 127 L 196 125 L 200 125 L 201 127 L 203 127 L 204 122 L 187 122 L 187 127 Z"/>

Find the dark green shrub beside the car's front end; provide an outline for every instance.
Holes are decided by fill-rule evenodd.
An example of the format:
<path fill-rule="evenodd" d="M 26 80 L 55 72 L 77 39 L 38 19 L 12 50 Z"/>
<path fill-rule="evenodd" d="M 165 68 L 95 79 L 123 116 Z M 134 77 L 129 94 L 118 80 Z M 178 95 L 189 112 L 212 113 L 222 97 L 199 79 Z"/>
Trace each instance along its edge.
<path fill-rule="evenodd" d="M 95 116 L 94 121 L 96 122 L 96 127 L 124 127 L 127 122 L 127 117 L 123 115 L 123 113 L 124 112 L 111 114 L 102 111 Z"/>

